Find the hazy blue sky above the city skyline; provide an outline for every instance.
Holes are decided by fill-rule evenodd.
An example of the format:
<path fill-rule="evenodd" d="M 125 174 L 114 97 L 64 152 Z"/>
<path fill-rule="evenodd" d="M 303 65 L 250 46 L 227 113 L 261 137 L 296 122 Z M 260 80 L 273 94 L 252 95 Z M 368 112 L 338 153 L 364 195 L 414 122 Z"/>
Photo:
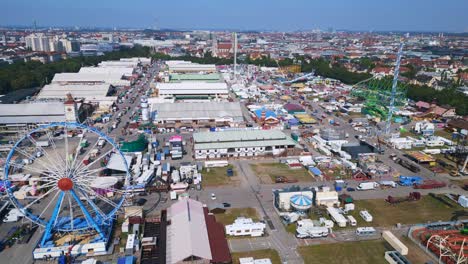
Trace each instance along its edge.
<path fill-rule="evenodd" d="M 468 0 L 0 0 L 0 7 L 0 25 L 468 32 Z"/>

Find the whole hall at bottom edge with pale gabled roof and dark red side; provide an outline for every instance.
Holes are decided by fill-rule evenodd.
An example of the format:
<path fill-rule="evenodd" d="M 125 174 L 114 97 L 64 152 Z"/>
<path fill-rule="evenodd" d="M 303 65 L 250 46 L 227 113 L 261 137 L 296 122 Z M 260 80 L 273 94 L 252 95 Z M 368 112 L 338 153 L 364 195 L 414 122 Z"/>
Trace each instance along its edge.
<path fill-rule="evenodd" d="M 183 199 L 167 209 L 166 262 L 231 263 L 224 227 L 201 202 Z"/>

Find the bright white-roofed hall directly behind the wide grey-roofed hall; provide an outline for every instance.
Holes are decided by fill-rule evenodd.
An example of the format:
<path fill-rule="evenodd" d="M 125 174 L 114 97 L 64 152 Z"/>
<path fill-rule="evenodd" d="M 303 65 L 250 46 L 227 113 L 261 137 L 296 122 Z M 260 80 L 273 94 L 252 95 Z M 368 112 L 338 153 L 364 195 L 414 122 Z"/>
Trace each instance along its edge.
<path fill-rule="evenodd" d="M 179 82 L 157 83 L 159 97 L 173 97 L 176 100 L 220 100 L 228 97 L 228 87 L 222 82 Z"/>

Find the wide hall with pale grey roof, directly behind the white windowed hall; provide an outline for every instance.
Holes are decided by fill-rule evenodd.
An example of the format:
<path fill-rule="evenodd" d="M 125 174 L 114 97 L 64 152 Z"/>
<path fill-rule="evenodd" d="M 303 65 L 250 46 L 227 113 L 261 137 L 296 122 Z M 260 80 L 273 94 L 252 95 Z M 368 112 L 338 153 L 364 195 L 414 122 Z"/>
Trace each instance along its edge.
<path fill-rule="evenodd" d="M 151 105 L 153 122 L 166 127 L 238 126 L 244 121 L 239 102 L 158 103 Z"/>

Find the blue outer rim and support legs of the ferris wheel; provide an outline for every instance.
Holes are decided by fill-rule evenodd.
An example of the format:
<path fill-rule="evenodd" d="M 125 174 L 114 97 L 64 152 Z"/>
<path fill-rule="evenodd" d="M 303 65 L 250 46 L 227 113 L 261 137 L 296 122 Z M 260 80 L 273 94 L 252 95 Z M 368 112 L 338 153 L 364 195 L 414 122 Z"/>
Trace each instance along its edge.
<path fill-rule="evenodd" d="M 86 227 L 74 228 L 74 229 L 71 229 L 71 228 L 70 229 L 54 228 L 55 223 L 53 223 L 53 222 L 55 222 L 55 221 L 50 221 L 50 220 L 56 219 L 57 216 L 58 216 L 58 213 L 59 213 L 59 208 L 58 207 L 59 207 L 61 199 L 63 199 L 64 191 L 61 191 L 60 198 L 57 199 L 57 204 L 55 205 L 53 215 L 52 215 L 51 219 L 49 219 L 48 221 L 40 219 L 38 216 L 36 216 L 36 215 L 32 214 L 31 212 L 29 212 L 29 210 L 25 210 L 24 206 L 21 203 L 19 203 L 18 200 L 13 195 L 13 191 L 11 189 L 11 186 L 12 186 L 11 181 L 8 179 L 8 176 L 9 176 L 9 170 L 10 170 L 10 161 L 11 161 L 11 158 L 13 157 L 13 154 L 16 152 L 15 151 L 16 148 L 18 148 L 18 146 L 19 146 L 19 144 L 21 142 L 28 139 L 31 136 L 31 134 L 36 133 L 36 132 L 41 132 L 43 130 L 47 130 L 49 128 L 54 128 L 54 127 L 66 127 L 66 128 L 70 128 L 70 129 L 80 128 L 80 129 L 83 129 L 83 130 L 86 130 L 86 131 L 91 131 L 91 132 L 95 133 L 96 135 L 100 136 L 101 138 L 104 138 L 107 142 L 109 142 L 114 147 L 116 153 L 118 155 L 120 155 L 121 158 L 123 159 L 124 166 L 125 166 L 125 174 L 126 174 L 125 183 L 130 182 L 130 171 L 129 171 L 127 160 L 125 159 L 125 156 L 123 155 L 123 153 L 120 151 L 118 145 L 110 137 L 108 137 L 106 134 L 104 134 L 103 132 L 99 131 L 98 129 L 96 129 L 94 127 L 89 127 L 89 126 L 86 126 L 86 125 L 83 125 L 83 124 L 79 124 L 79 123 L 75 123 L 75 122 L 54 122 L 54 123 L 50 123 L 50 124 L 47 124 L 47 125 L 41 125 L 41 126 L 37 127 L 36 129 L 33 129 L 32 131 L 28 132 L 26 135 L 24 135 L 21 139 L 19 139 L 14 144 L 13 148 L 8 153 L 7 159 L 5 161 L 5 166 L 4 166 L 4 183 L 5 183 L 5 186 L 7 187 L 6 188 L 6 193 L 7 193 L 8 197 L 9 197 L 10 201 L 13 203 L 13 205 L 18 210 L 20 210 L 24 214 L 24 216 L 26 218 L 33 221 L 34 223 L 37 223 L 37 224 L 45 227 L 46 228 L 46 233 L 50 234 L 50 232 L 52 230 L 62 231 L 62 232 L 72 232 L 72 231 L 80 231 L 80 230 L 85 230 L 85 229 L 89 229 L 89 228 L 94 228 L 96 231 L 99 232 L 99 234 L 101 235 L 101 238 L 104 238 L 104 234 L 101 231 L 100 225 L 110 225 L 111 224 L 110 220 L 114 219 L 114 216 L 115 216 L 116 212 L 122 207 L 122 204 L 125 201 L 125 197 L 126 197 L 126 192 L 125 191 L 122 192 L 122 197 L 121 197 L 120 201 L 118 203 L 116 203 L 117 206 L 115 208 L 113 208 L 109 213 L 107 213 L 105 215 L 105 219 L 104 219 L 98 213 L 96 214 L 96 216 L 94 218 L 91 217 L 89 212 L 85 209 L 85 207 L 81 203 L 80 199 L 76 195 L 76 192 L 74 190 L 71 190 L 71 192 L 70 192 L 71 195 L 76 200 L 76 202 L 81 207 L 81 209 L 84 210 L 83 213 L 85 215 L 85 218 L 87 219 L 87 218 L 91 217 L 91 220 L 92 220 L 91 221 L 92 226 L 88 225 Z M 67 135 L 65 135 L 65 136 L 67 136 Z M 86 198 L 90 199 L 88 197 L 86 197 Z M 91 204 L 93 209 L 96 210 L 96 208 L 94 208 L 94 206 L 93 206 L 94 203 L 89 203 L 89 204 Z M 95 218 L 97 218 L 97 219 L 95 219 Z M 45 237 L 46 236 L 44 235 L 44 238 Z"/>

